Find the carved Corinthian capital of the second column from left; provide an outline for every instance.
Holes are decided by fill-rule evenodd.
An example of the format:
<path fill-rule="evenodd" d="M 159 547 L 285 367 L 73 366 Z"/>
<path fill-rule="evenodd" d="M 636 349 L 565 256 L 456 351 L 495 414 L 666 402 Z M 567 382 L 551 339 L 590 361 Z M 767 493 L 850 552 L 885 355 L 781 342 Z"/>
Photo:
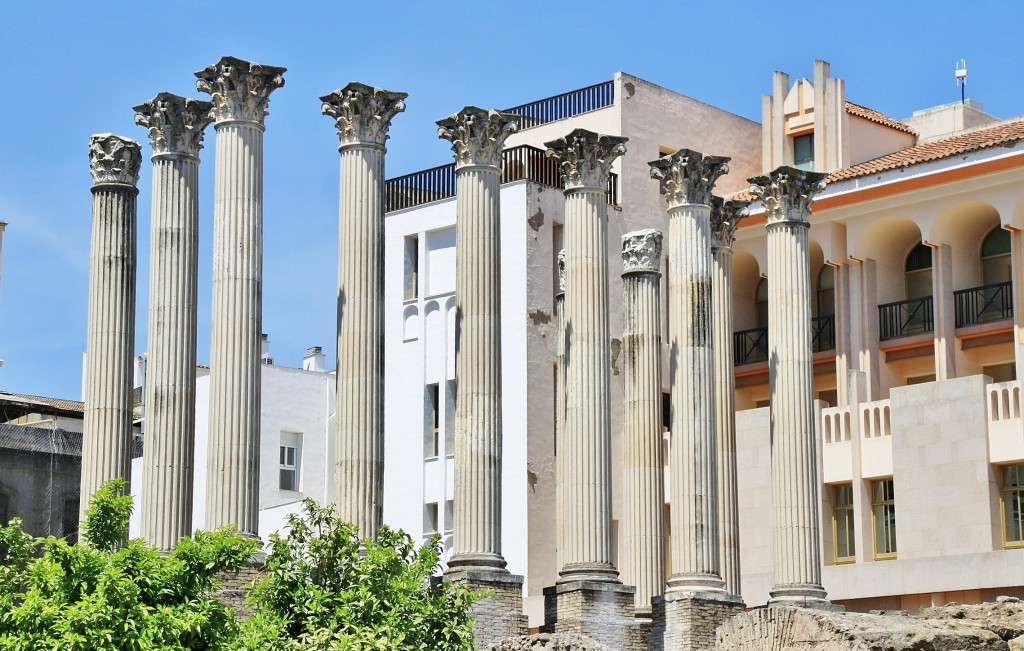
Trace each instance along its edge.
<path fill-rule="evenodd" d="M 203 130 L 213 121 L 212 107 L 208 101 L 162 92 L 132 110 L 135 124 L 150 130 L 154 156 L 198 158 L 203 148 Z"/>

